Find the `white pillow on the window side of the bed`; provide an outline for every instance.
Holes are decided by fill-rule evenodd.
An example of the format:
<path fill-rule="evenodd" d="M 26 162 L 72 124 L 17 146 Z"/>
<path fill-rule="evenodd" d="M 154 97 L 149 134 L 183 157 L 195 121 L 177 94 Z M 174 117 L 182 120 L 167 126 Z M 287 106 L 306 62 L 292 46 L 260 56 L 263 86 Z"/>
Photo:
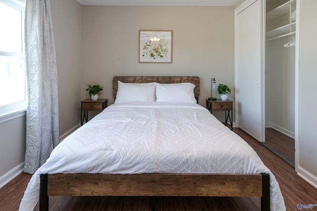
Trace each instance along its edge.
<path fill-rule="evenodd" d="M 123 83 L 118 81 L 118 91 L 114 103 L 154 102 L 154 83 Z"/>

